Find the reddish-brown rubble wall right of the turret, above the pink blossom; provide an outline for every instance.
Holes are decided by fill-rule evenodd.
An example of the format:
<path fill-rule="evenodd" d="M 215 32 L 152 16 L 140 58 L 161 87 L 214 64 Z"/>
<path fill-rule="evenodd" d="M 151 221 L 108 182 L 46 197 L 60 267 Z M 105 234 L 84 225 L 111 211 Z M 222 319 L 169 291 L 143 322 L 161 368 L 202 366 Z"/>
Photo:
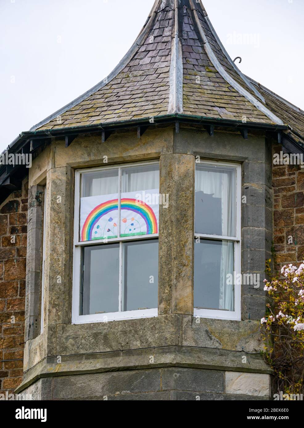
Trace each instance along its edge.
<path fill-rule="evenodd" d="M 273 153 L 280 153 L 274 146 Z M 304 169 L 300 165 L 274 165 L 274 267 L 304 260 Z"/>

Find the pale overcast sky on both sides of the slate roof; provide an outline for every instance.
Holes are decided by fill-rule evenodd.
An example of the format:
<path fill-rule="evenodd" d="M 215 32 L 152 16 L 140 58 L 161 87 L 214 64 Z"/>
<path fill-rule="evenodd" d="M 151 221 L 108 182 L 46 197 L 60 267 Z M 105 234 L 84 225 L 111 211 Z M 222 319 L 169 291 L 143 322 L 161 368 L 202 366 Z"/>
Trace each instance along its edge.
<path fill-rule="evenodd" d="M 0 0 L 0 152 L 107 76 L 153 3 Z M 241 71 L 304 109 L 304 0 L 203 3 Z"/>

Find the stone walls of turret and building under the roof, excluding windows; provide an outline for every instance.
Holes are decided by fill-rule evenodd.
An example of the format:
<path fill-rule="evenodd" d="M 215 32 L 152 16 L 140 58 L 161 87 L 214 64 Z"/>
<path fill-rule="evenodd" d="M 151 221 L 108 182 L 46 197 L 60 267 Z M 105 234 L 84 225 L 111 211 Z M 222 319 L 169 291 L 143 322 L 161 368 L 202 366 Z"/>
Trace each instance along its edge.
<path fill-rule="evenodd" d="M 181 222 L 173 218 L 175 212 L 183 217 L 187 214 L 190 232 L 193 195 L 186 189 L 193 187 L 194 156 L 239 161 L 242 194 L 247 196 L 247 204 L 242 207 L 242 272 L 264 275 L 269 256 L 274 258 L 277 270 L 283 264 L 299 263 L 304 259 L 304 170 L 300 166 L 274 165 L 271 175 L 271 153 L 262 136 L 251 135 L 245 143 L 235 134 L 216 133 L 210 139 L 207 133 L 181 128 L 180 134 L 168 129 L 147 131 L 140 145 L 131 134 L 124 134 L 123 140 L 114 135 L 107 143 L 100 155 L 99 141 L 94 138 L 75 141 L 68 149 L 57 142 L 34 161 L 30 171 L 32 199 L 39 190 L 37 184 L 48 176 L 46 250 L 51 256 L 46 266 L 42 334 L 38 313 L 41 274 L 39 270 L 39 278 L 30 279 L 32 271 L 36 274 L 38 269 L 31 270 L 28 261 L 28 282 L 36 284 L 34 291 L 38 294 L 27 299 L 27 318 L 31 325 L 31 317 L 35 316 L 38 324 L 36 332 L 30 333 L 27 328 L 25 335 L 23 379 L 26 246 L 31 249 L 31 242 L 36 242 L 36 235 L 30 234 L 27 243 L 27 180 L 21 192 L 13 192 L 0 205 L 0 393 L 13 392 L 23 380 L 17 391 L 33 394 L 34 399 L 269 399 L 271 371 L 259 355 L 259 318 L 265 310 L 265 293 L 262 288 L 243 287 L 242 321 L 201 319 L 197 324 L 192 313 L 192 235 L 183 235 Z M 274 145 L 273 152 L 281 150 Z M 111 163 L 159 158 L 162 192 L 175 192 L 180 199 L 172 196 L 175 205 L 160 214 L 167 226 L 160 227 L 163 272 L 159 316 L 75 325 L 71 324 L 73 170 L 99 165 L 104 154 Z M 57 195 L 63 197 L 63 204 L 55 203 Z M 35 232 L 39 216 L 32 211 L 30 231 Z M 64 240 L 58 241 L 60 236 Z M 183 251 L 176 251 L 168 259 L 172 237 L 176 243 L 182 238 Z M 41 250 L 41 233 L 38 241 Z M 180 248 L 177 244 L 176 249 Z M 174 260 L 175 265 L 169 266 Z M 186 265 L 183 260 L 187 260 Z M 54 283 L 58 272 L 63 278 L 60 289 Z M 30 313 L 30 308 L 38 310 L 38 315 Z M 244 355 L 248 357 L 246 363 Z"/>

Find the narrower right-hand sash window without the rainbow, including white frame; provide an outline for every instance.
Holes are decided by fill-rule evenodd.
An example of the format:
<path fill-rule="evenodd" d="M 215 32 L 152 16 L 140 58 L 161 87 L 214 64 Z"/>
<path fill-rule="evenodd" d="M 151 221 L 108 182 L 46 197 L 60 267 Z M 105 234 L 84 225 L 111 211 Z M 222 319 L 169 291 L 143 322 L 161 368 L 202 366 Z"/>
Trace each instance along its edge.
<path fill-rule="evenodd" d="M 200 162 L 195 175 L 194 315 L 240 319 L 241 166 Z"/>

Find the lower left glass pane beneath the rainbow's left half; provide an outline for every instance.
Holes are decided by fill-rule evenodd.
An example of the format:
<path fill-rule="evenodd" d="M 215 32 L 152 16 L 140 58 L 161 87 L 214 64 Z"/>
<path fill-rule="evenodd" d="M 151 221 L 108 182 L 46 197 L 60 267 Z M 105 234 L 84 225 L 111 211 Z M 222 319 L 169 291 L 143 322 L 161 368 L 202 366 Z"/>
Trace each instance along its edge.
<path fill-rule="evenodd" d="M 119 310 L 119 244 L 84 247 L 80 315 Z"/>

